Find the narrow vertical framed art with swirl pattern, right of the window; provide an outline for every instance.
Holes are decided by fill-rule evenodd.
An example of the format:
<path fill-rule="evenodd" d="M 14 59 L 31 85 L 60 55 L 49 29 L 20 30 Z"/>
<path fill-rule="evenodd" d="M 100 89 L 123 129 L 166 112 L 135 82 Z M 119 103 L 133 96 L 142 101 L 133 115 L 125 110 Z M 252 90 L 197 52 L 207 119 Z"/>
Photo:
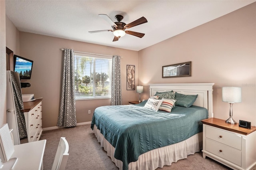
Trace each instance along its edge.
<path fill-rule="evenodd" d="M 135 65 L 126 65 L 126 90 L 135 90 Z"/>

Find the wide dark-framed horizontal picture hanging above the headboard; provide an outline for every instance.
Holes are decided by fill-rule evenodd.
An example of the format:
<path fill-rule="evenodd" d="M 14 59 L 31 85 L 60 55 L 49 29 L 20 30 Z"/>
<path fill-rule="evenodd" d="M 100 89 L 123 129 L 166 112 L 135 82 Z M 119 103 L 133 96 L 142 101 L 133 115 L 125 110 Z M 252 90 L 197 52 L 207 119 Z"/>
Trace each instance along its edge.
<path fill-rule="evenodd" d="M 172 65 L 162 66 L 162 78 L 171 77 L 190 77 L 191 76 L 191 61 Z"/>

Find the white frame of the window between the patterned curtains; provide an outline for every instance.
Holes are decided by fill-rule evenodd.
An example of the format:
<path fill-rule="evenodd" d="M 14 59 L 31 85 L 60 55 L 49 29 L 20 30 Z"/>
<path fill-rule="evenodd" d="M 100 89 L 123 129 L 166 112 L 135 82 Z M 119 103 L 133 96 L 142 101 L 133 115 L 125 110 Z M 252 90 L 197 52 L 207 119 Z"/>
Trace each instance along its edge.
<path fill-rule="evenodd" d="M 84 57 L 93 57 L 93 58 L 98 58 L 98 59 L 111 59 L 112 60 L 112 57 L 111 56 L 101 56 L 101 55 L 92 55 L 92 54 L 87 54 L 87 53 L 79 53 L 79 52 L 74 52 L 74 62 L 76 63 L 76 55 L 79 55 L 79 56 L 84 56 Z M 74 68 L 75 69 L 75 68 Z M 110 77 L 109 77 L 109 79 L 110 79 L 110 90 L 111 90 L 111 79 L 112 79 L 112 77 L 111 77 L 111 72 L 112 72 L 112 66 L 110 65 L 109 66 L 109 69 L 110 69 Z M 76 69 L 75 69 L 75 72 L 76 72 Z M 95 73 L 96 73 L 96 69 L 95 69 L 95 62 L 94 62 L 94 65 L 93 65 L 93 75 L 95 75 Z M 93 79 L 95 79 L 95 76 L 93 77 Z M 95 81 L 93 81 L 93 82 L 95 82 Z M 93 88 L 94 88 L 94 90 L 93 90 L 93 93 L 94 93 L 94 95 L 92 96 L 92 97 L 76 97 L 75 96 L 75 99 L 76 100 L 95 100 L 95 99 L 111 99 L 111 93 L 110 93 L 110 95 L 108 95 L 108 96 L 96 96 L 95 95 L 95 85 L 93 86 Z"/>

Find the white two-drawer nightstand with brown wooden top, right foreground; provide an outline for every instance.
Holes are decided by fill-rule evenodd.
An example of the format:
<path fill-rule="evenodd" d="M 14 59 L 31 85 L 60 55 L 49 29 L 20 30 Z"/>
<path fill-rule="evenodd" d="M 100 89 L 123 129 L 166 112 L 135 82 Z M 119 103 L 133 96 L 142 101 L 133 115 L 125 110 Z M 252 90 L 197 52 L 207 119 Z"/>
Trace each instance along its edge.
<path fill-rule="evenodd" d="M 256 170 L 256 127 L 251 129 L 209 118 L 203 123 L 203 158 L 235 170 Z"/>

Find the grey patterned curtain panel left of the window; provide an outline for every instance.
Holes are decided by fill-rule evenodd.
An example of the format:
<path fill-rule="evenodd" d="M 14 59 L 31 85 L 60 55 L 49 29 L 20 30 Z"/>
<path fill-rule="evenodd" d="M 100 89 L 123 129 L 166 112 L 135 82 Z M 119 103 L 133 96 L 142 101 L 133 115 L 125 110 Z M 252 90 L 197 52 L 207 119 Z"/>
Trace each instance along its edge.
<path fill-rule="evenodd" d="M 76 100 L 74 84 L 74 51 L 64 50 L 62 90 L 58 127 L 76 126 Z"/>

